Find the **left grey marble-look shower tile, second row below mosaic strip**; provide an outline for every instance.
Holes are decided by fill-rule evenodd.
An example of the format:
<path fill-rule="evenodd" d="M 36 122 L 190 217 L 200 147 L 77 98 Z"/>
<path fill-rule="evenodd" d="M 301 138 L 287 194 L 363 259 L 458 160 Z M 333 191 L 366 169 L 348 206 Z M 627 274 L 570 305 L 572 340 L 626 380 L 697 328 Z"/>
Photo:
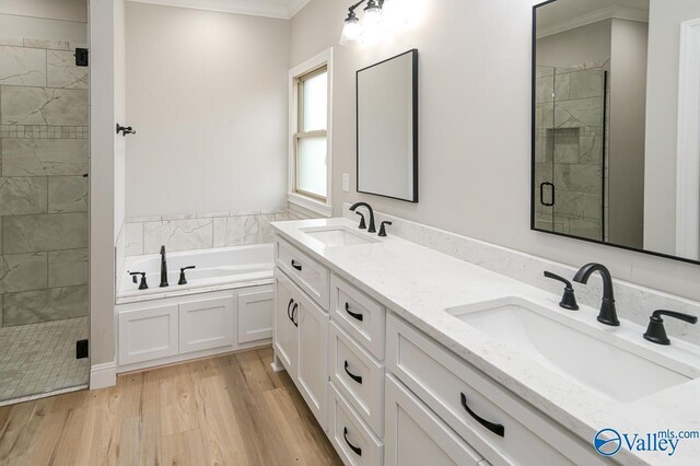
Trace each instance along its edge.
<path fill-rule="evenodd" d="M 46 213 L 46 177 L 0 177 L 0 215 Z"/>

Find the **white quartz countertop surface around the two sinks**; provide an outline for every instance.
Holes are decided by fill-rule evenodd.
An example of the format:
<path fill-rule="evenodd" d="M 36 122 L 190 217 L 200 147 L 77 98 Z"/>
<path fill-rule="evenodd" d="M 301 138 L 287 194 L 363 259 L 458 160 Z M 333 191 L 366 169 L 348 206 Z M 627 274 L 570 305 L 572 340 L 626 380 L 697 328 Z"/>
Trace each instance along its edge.
<path fill-rule="evenodd" d="M 560 295 L 390 234 L 378 243 L 329 247 L 302 231 L 336 226 L 357 229 L 357 224 L 347 219 L 272 223 L 282 238 L 362 289 L 582 441 L 591 443 L 596 432 L 604 428 L 640 435 L 668 429 L 700 431 L 700 348 L 697 346 L 684 341 L 674 341 L 669 347 L 650 343 L 642 338 L 645 328 L 638 324 L 622 319 L 620 327 L 605 326 L 596 321 L 597 308 L 581 306 L 579 312 L 567 312 L 558 306 Z M 359 230 L 358 233 L 369 234 Z M 545 369 L 534 359 L 513 351 L 509 343 L 490 338 L 445 312 L 451 307 L 506 296 L 523 298 L 551 312 L 565 313 L 567 318 L 576 321 L 578 325 L 597 331 L 598 338 L 615 340 L 617 346 L 651 361 L 679 364 L 692 380 L 632 401 L 614 400 L 572 377 Z M 673 457 L 664 452 L 632 452 L 625 446 L 612 457 L 629 465 L 664 462 L 695 465 L 698 458 L 700 439 L 681 440 Z"/>

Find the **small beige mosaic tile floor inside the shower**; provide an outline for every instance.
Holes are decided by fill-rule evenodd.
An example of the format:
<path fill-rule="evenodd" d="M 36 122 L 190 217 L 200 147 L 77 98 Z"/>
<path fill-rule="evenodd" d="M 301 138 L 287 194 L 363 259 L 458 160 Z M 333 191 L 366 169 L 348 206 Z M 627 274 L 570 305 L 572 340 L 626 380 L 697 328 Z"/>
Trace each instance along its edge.
<path fill-rule="evenodd" d="M 88 385 L 89 359 L 75 359 L 88 317 L 0 328 L 0 406 Z"/>

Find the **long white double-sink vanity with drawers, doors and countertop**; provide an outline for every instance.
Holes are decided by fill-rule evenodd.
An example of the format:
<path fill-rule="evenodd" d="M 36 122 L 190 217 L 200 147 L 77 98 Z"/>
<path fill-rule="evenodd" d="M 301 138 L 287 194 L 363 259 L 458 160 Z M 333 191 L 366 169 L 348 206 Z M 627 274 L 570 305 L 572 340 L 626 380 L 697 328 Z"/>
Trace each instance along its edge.
<path fill-rule="evenodd" d="M 603 325 L 597 308 L 564 310 L 560 295 L 390 229 L 272 226 L 272 366 L 348 465 L 654 464 L 666 453 L 610 458 L 593 439 L 698 422 L 693 345 L 654 345 L 644 326 Z M 699 442 L 675 459 L 698 457 Z"/>

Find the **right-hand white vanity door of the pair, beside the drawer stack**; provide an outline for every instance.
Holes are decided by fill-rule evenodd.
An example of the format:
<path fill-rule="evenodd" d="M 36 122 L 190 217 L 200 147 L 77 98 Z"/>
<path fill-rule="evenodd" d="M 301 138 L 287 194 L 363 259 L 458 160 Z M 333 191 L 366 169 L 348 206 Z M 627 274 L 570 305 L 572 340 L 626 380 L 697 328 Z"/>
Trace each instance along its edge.
<path fill-rule="evenodd" d="M 296 386 L 320 427 L 327 427 L 328 314 L 301 291 L 299 322 L 299 380 Z"/>

